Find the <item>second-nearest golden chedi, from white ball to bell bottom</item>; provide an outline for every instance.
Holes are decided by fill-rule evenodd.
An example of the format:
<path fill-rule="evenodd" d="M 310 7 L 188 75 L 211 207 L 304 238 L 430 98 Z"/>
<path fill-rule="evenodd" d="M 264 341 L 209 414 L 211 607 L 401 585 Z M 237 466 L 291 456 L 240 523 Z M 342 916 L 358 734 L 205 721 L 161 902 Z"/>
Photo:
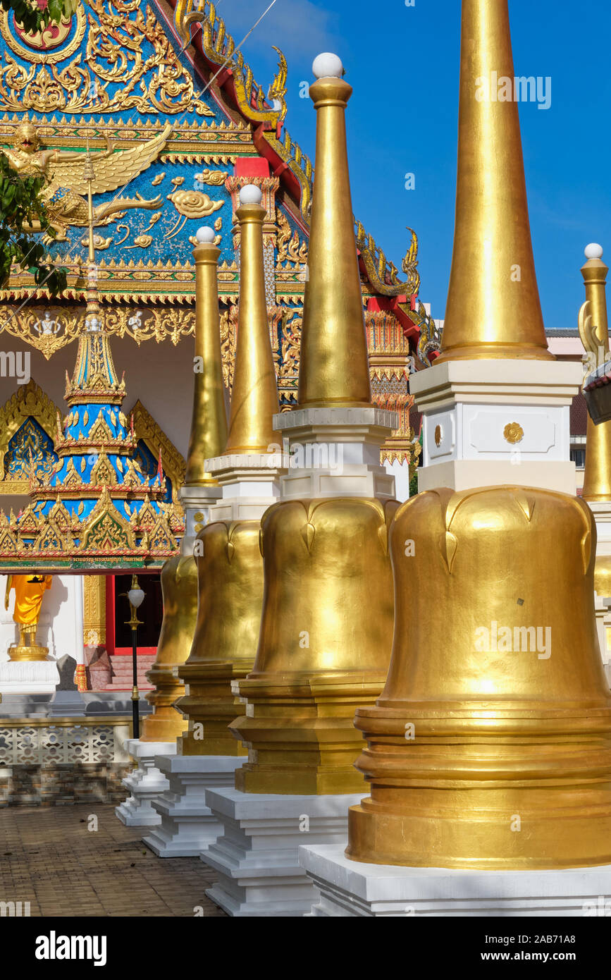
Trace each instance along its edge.
<path fill-rule="evenodd" d="M 393 634 L 387 538 L 399 505 L 388 495 L 359 492 L 362 486 L 373 491 L 374 474 L 384 473 L 379 446 L 391 426 L 384 428 L 387 414 L 378 417 L 371 406 L 346 148 L 352 88 L 334 55 L 319 56 L 314 73 L 316 163 L 300 404 L 276 419 L 297 466 L 282 477 L 283 497 L 294 496 L 297 485 L 299 499 L 284 499 L 261 519 L 265 589 L 257 661 L 237 685 L 247 710 L 231 725 L 249 747 L 248 762 L 236 771 L 236 789 L 246 793 L 364 790 L 353 766 L 361 743 L 353 711 L 380 693 Z M 358 466 L 343 468 L 345 449 Z"/>

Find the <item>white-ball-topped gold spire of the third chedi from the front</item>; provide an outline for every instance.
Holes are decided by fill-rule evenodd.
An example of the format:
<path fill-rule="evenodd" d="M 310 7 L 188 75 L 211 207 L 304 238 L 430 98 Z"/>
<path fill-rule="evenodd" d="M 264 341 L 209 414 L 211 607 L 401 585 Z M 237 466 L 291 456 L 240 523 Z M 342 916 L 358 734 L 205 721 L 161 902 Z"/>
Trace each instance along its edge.
<path fill-rule="evenodd" d="M 225 456 L 265 453 L 278 442 L 272 417 L 279 411 L 276 370 L 271 354 L 265 304 L 261 192 L 248 184 L 240 191 L 240 310 Z"/>

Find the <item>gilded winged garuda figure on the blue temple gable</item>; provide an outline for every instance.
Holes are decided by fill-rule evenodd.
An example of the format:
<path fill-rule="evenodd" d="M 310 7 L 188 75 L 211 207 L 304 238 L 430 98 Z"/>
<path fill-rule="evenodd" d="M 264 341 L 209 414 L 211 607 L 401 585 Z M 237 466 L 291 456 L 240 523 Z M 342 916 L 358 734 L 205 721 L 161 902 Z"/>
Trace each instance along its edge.
<path fill-rule="evenodd" d="M 162 132 L 146 143 L 129 150 L 115 152 L 115 144 L 106 139 L 107 149 L 94 155 L 95 177 L 91 184 L 93 194 L 117 190 L 138 173 L 146 170 L 157 158 L 171 132 L 167 123 Z M 15 131 L 13 149 L 0 151 L 8 158 L 11 167 L 23 176 L 44 176 L 47 184 L 41 192 L 51 225 L 57 232 L 58 241 L 66 241 L 69 225 L 86 227 L 89 223 L 87 201 L 88 182 L 85 179 L 86 154 L 66 150 L 50 150 L 40 147 L 40 138 L 33 123 L 25 121 Z M 100 204 L 93 209 L 94 225 L 108 224 L 112 216 L 129 208 L 161 208 L 161 197 L 146 200 L 136 193 L 135 197 L 118 197 L 115 201 Z M 32 227 L 32 230 L 39 230 Z"/>

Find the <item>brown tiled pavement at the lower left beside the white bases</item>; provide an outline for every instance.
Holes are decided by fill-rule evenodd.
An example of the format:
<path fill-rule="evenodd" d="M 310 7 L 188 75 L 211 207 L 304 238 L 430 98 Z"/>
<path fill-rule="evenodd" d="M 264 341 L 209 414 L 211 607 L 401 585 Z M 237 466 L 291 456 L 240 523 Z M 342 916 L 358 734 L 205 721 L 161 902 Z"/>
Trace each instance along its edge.
<path fill-rule="evenodd" d="M 0 809 L 0 902 L 29 902 L 30 915 L 224 916 L 205 895 L 214 872 L 156 858 L 145 832 L 106 804 Z"/>

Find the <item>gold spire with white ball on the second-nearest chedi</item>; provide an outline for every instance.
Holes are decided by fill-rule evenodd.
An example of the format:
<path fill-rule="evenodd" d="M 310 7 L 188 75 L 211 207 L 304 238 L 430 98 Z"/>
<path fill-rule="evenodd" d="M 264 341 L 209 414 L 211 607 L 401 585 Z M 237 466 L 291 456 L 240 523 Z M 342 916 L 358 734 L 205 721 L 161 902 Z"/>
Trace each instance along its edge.
<path fill-rule="evenodd" d="M 367 340 L 354 240 L 346 146 L 352 87 L 336 55 L 314 61 L 309 96 L 317 113 L 299 404 L 369 405 Z"/>

